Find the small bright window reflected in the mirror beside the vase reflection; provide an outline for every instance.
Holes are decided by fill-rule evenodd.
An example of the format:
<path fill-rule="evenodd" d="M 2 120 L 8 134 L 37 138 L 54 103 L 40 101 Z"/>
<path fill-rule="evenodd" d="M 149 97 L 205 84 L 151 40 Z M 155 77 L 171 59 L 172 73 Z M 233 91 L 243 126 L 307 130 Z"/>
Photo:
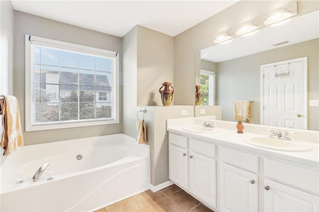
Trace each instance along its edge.
<path fill-rule="evenodd" d="M 203 94 L 202 106 L 215 105 L 215 72 L 200 70 L 200 92 Z"/>

